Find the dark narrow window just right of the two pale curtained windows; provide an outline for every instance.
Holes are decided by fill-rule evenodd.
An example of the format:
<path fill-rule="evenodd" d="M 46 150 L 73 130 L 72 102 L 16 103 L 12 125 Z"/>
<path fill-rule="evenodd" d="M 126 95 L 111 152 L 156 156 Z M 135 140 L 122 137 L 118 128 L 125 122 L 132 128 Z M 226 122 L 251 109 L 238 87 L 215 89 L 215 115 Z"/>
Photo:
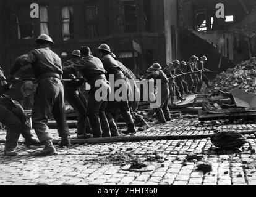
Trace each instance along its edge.
<path fill-rule="evenodd" d="M 85 23 L 86 34 L 88 38 L 95 38 L 98 36 L 98 7 L 86 6 Z"/>

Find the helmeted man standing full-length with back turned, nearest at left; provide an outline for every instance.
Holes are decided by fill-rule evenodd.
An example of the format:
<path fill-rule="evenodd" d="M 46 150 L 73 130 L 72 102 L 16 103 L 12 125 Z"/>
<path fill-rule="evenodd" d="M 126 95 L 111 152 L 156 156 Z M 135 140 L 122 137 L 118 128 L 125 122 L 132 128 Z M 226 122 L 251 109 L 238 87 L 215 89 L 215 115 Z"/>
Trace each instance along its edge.
<path fill-rule="evenodd" d="M 11 68 L 11 76 L 22 67 L 32 65 L 32 71 L 38 80 L 35 101 L 32 110 L 32 125 L 40 142 L 45 148 L 33 153 L 35 156 L 55 155 L 56 149 L 52 143 L 49 128 L 46 125 L 49 116 L 53 114 L 56 120 L 59 137 L 59 146 L 69 147 L 69 127 L 66 121 L 66 110 L 64 105 L 64 89 L 61 83 L 62 65 L 61 58 L 51 49 L 53 40 L 45 34 L 36 39 L 38 47 L 28 54 L 18 57 Z"/>

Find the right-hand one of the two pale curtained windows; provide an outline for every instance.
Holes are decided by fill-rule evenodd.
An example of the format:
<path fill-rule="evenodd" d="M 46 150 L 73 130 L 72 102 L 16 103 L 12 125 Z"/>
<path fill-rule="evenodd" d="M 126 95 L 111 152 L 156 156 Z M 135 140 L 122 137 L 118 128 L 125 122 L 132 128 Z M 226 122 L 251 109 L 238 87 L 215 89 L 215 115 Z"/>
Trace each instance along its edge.
<path fill-rule="evenodd" d="M 74 38 L 73 7 L 62 7 L 62 38 L 64 41 Z"/>

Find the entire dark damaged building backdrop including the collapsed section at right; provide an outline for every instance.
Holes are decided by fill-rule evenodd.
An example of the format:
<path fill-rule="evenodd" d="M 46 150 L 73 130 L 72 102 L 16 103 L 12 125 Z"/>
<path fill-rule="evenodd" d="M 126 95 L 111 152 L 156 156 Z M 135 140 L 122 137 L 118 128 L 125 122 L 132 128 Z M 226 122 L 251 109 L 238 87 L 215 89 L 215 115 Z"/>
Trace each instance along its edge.
<path fill-rule="evenodd" d="M 35 2 L 39 18 L 30 18 L 30 4 Z M 229 22 L 215 17 L 220 2 Z M 81 45 L 98 56 L 95 48 L 104 42 L 139 75 L 154 62 L 164 66 L 192 54 L 207 55 L 211 70 L 226 70 L 254 55 L 255 31 L 244 34 L 241 27 L 255 21 L 254 8 L 251 0 L 0 0 L 0 65 L 8 74 L 14 59 L 31 50 L 34 39 L 45 33 L 56 42 L 53 50 L 62 60 Z M 208 36 L 212 34 L 214 41 Z M 234 43 L 218 49 L 220 35 L 226 34 L 221 41 Z M 21 73 L 31 74 L 29 68 Z M 19 87 L 13 96 L 19 100 L 18 91 Z"/>

